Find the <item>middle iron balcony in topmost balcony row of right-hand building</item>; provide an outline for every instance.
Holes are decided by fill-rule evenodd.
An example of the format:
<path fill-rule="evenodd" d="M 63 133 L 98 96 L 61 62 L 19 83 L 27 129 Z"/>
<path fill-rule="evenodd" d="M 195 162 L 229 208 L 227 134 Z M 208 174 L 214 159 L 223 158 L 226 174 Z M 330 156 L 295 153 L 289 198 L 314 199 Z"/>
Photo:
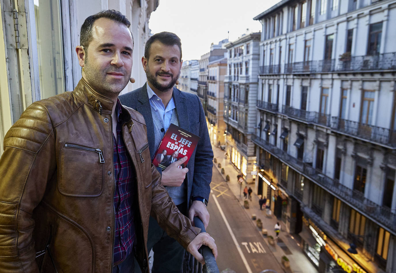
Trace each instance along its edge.
<path fill-rule="evenodd" d="M 285 73 L 317 73 L 334 71 L 335 59 L 285 64 Z"/>

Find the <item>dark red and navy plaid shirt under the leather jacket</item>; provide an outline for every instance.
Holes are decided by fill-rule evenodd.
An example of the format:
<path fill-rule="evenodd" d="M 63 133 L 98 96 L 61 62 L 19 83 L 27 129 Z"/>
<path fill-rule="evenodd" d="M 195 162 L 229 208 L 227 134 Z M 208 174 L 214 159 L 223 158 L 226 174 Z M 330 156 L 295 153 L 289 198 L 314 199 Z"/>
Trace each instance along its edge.
<path fill-rule="evenodd" d="M 135 241 L 135 225 L 133 205 L 133 192 L 135 191 L 135 170 L 122 138 L 121 103 L 117 99 L 117 139 L 113 145 L 114 179 L 114 213 L 116 219 L 114 240 L 114 263 L 124 261 L 129 254 L 133 254 Z"/>

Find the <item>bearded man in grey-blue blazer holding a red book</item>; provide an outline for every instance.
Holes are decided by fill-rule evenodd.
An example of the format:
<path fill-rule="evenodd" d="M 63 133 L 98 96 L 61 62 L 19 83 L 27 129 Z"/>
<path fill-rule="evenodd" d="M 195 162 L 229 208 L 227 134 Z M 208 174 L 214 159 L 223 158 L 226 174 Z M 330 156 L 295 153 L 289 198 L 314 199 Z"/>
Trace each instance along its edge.
<path fill-rule="evenodd" d="M 198 216 L 205 227 L 209 223 L 206 209 L 210 193 L 213 151 L 210 144 L 204 109 L 200 99 L 175 88 L 181 66 L 181 41 L 170 32 L 151 36 L 142 57 L 147 83 L 120 96 L 122 104 L 139 111 L 147 125 L 148 147 L 154 156 L 162 137 L 174 123 L 200 137 L 196 150 L 185 168 L 187 157 L 171 163 L 162 171 L 161 184 L 179 210 L 193 220 Z M 184 249 L 150 218 L 147 248 L 154 251 L 152 272 L 178 272 L 182 268 Z"/>

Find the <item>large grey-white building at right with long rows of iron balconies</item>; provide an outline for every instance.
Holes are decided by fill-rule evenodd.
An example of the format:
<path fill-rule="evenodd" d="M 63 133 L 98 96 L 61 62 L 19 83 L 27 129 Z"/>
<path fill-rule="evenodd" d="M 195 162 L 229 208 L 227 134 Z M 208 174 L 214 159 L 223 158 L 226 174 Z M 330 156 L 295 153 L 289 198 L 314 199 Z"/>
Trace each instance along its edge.
<path fill-rule="evenodd" d="M 255 190 L 320 272 L 396 272 L 395 15 L 394 0 L 283 0 L 254 18 Z"/>

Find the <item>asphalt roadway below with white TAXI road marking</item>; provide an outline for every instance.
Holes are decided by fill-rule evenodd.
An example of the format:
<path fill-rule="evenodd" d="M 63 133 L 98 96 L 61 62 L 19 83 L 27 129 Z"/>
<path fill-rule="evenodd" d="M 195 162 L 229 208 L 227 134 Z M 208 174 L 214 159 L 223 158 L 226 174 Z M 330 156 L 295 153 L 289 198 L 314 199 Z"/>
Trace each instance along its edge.
<path fill-rule="evenodd" d="M 216 240 L 219 271 L 228 268 L 236 273 L 259 273 L 264 269 L 284 272 L 255 226 L 255 221 L 246 214 L 215 167 L 211 188 L 207 231 Z"/>

